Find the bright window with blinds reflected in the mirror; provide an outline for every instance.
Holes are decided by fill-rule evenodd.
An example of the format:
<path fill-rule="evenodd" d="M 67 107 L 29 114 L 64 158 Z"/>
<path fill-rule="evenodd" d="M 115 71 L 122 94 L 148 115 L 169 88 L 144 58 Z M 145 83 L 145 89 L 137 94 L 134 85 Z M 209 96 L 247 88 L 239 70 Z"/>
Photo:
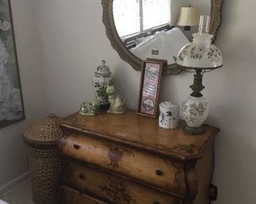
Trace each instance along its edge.
<path fill-rule="evenodd" d="M 170 23 L 171 0 L 114 0 L 113 18 L 120 37 Z M 140 13 L 142 11 L 142 23 Z"/>

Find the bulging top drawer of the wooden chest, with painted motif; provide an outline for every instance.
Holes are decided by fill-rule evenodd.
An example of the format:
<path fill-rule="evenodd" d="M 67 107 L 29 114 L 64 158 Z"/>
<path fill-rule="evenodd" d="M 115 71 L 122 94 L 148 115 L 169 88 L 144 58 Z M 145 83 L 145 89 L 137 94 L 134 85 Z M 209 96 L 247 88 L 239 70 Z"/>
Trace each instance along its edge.
<path fill-rule="evenodd" d="M 152 184 L 181 198 L 187 195 L 184 165 L 181 162 L 75 132 L 62 137 L 58 148 L 65 157 Z"/>

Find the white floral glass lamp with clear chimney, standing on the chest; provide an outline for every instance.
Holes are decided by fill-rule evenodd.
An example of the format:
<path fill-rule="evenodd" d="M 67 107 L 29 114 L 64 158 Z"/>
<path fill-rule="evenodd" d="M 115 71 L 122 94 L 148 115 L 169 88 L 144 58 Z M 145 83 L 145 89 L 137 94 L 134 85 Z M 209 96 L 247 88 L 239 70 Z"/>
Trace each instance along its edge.
<path fill-rule="evenodd" d="M 182 113 L 186 126 L 184 132 L 200 134 L 205 132 L 203 122 L 209 114 L 209 103 L 202 96 L 202 74 L 223 66 L 221 51 L 211 44 L 213 35 L 210 35 L 210 16 L 201 16 L 199 30 L 193 34 L 193 42 L 184 46 L 178 54 L 176 63 L 186 70 L 194 70 L 194 84 L 190 97 L 182 102 Z"/>

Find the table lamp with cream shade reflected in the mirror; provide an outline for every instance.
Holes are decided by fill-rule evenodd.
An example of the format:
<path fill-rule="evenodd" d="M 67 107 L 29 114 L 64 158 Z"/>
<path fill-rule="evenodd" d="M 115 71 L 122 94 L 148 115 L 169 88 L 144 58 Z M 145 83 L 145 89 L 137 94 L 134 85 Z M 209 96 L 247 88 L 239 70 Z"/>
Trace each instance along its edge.
<path fill-rule="evenodd" d="M 199 24 L 198 7 L 189 5 L 189 7 L 180 8 L 180 18 L 177 25 L 184 26 L 184 31 L 190 31 L 191 26 Z"/>

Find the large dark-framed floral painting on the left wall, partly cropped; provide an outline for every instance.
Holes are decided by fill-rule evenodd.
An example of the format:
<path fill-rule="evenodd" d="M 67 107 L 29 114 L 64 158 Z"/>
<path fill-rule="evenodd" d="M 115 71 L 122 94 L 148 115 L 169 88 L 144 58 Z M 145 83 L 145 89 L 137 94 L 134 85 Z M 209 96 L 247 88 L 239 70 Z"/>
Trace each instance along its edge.
<path fill-rule="evenodd" d="M 0 0 L 0 128 L 25 118 L 9 0 Z"/>

